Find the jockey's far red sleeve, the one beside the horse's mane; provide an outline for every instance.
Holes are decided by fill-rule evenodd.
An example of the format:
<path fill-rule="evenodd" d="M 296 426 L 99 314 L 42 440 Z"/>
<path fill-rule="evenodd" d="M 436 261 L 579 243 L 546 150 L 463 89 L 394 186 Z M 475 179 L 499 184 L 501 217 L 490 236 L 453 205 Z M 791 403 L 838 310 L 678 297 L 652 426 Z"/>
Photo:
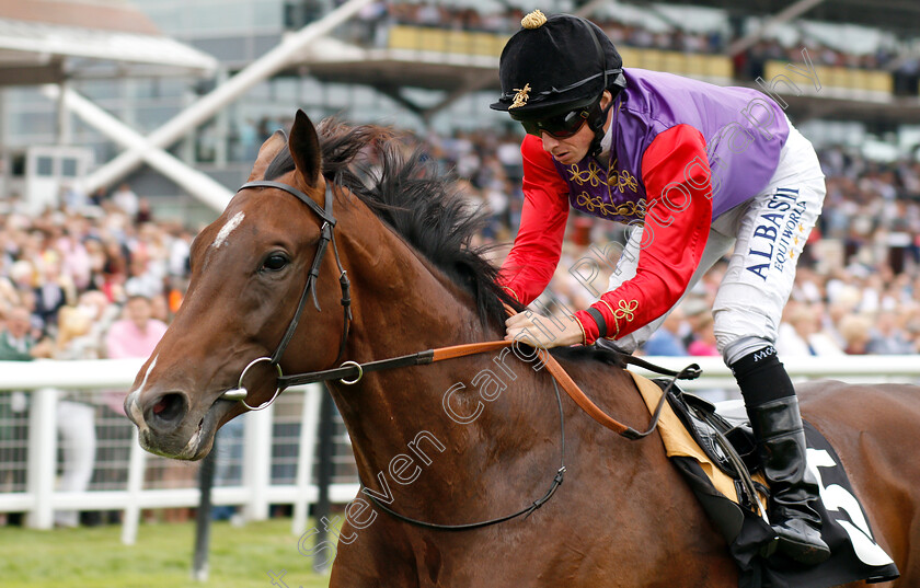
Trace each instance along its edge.
<path fill-rule="evenodd" d="M 568 184 L 559 175 L 542 141 L 528 135 L 524 157 L 524 208 L 515 244 L 498 274 L 498 284 L 521 304 L 540 296 L 553 277 L 562 254 L 568 219 Z"/>

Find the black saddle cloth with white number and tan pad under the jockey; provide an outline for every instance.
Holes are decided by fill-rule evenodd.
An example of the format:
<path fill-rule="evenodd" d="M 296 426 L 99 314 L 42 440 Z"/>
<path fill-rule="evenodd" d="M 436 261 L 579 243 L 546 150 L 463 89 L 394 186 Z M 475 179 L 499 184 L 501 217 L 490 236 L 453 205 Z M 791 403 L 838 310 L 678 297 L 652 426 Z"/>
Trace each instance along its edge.
<path fill-rule="evenodd" d="M 654 412 L 662 397 L 662 388 L 634 372 L 630 374 L 649 413 Z M 739 568 L 739 588 L 827 588 L 859 580 L 876 584 L 896 579 L 899 576 L 897 566 L 875 542 L 869 517 L 855 498 L 840 458 L 807 422 L 808 468 L 820 489 L 820 501 L 814 506 L 824 521 L 821 537 L 830 546 L 831 556 L 813 567 L 781 554 L 770 558 L 760 556 L 761 546 L 774 535 L 763 506 L 769 489 L 762 475 L 757 473 L 760 465 L 744 405 L 738 402 L 727 407 L 728 412 L 718 414 L 721 405 L 716 411 L 702 399 L 680 390 L 671 391 L 662 410 L 658 431 L 668 458 L 683 474 L 713 526 L 728 543 L 728 551 Z M 731 441 L 734 460 L 718 442 L 720 436 Z M 741 482 L 744 474 L 737 472 L 733 461 L 744 463 L 748 473 L 755 473 L 754 486 L 761 508 L 754 507 L 749 493 L 745 492 L 746 484 Z"/>

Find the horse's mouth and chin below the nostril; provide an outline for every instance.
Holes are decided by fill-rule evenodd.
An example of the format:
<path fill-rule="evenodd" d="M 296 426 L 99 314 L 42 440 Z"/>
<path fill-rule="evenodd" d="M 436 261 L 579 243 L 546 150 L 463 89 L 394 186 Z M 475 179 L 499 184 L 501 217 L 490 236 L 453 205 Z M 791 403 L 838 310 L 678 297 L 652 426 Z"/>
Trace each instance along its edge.
<path fill-rule="evenodd" d="M 169 434 L 159 434 L 150 427 L 138 427 L 138 440 L 145 450 L 157 456 L 186 461 L 199 460 L 210 452 L 218 426 L 237 404 L 233 401 L 218 399 L 204 415 L 187 415 L 186 425 Z M 195 416 L 198 416 L 198 422 L 193 428 L 187 423 Z M 189 428 L 191 434 L 187 433 Z"/>

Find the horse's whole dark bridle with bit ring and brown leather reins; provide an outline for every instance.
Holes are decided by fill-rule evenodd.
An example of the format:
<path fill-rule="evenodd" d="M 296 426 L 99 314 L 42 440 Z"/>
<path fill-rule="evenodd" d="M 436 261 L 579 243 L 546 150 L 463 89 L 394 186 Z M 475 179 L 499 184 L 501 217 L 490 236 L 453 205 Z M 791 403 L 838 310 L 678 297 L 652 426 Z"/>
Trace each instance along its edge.
<path fill-rule="evenodd" d="M 312 293 L 313 298 L 313 305 L 317 310 L 320 310 L 320 303 L 317 298 L 317 280 L 320 275 L 320 265 L 322 264 L 323 256 L 325 255 L 326 249 L 329 244 L 332 243 L 332 251 L 335 255 L 335 263 L 338 267 L 338 283 L 342 287 L 342 307 L 344 309 L 344 319 L 343 319 L 343 327 L 342 327 L 342 339 L 338 346 L 338 356 L 335 359 L 337 362 L 341 358 L 343 353 L 345 351 L 345 345 L 348 341 L 348 330 L 350 326 L 352 321 L 352 298 L 349 295 L 350 284 L 348 281 L 347 272 L 342 266 L 342 260 L 338 256 L 338 249 L 335 244 L 335 235 L 333 234 L 333 229 L 335 228 L 335 217 L 333 216 L 332 205 L 333 205 L 333 192 L 332 192 L 332 183 L 326 182 L 326 189 L 325 189 L 325 206 L 320 207 L 317 203 L 314 203 L 309 196 L 300 192 L 299 189 L 295 188 L 294 186 L 289 186 L 287 184 L 283 184 L 280 182 L 271 182 L 267 180 L 262 180 L 257 182 L 248 182 L 240 186 L 240 191 L 248 189 L 248 188 L 258 188 L 258 187 L 269 187 L 269 188 L 277 188 L 283 192 L 287 192 L 288 194 L 295 196 L 298 200 L 302 201 L 307 205 L 310 210 L 312 210 L 320 219 L 323 221 L 322 227 L 320 228 L 320 241 L 317 245 L 317 254 L 313 256 L 313 263 L 310 266 L 310 272 L 307 275 L 307 284 L 303 286 L 303 292 L 300 295 L 300 301 L 297 303 L 297 310 L 294 313 L 294 316 L 288 323 L 287 331 L 285 331 L 284 336 L 281 337 L 278 347 L 275 349 L 271 356 L 260 357 L 250 361 L 250 364 L 243 368 L 242 373 L 240 373 L 240 380 L 238 383 L 238 388 L 235 390 L 229 390 L 225 392 L 221 397 L 226 400 L 235 400 L 243 403 L 243 405 L 249 408 L 250 411 L 261 411 L 263 408 L 268 407 L 275 399 L 278 397 L 278 394 L 281 393 L 283 390 L 292 387 L 292 385 L 300 385 L 307 384 L 312 382 L 323 382 L 329 380 L 338 380 L 343 384 L 352 385 L 357 383 L 361 380 L 365 373 L 372 372 L 372 371 L 381 371 L 387 369 L 393 369 L 399 367 L 405 366 L 419 366 L 432 364 L 434 361 L 440 361 L 444 359 L 453 359 L 457 357 L 464 357 L 469 355 L 476 355 L 487 353 L 490 350 L 503 349 L 511 346 L 514 342 L 506 342 L 506 341 L 495 341 L 495 342 L 485 342 L 485 343 L 473 343 L 467 345 L 455 345 L 451 347 L 440 347 L 438 349 L 428 349 L 425 351 L 419 351 L 416 354 L 404 355 L 400 357 L 393 357 L 390 359 L 380 359 L 377 361 L 368 361 L 365 364 L 357 364 L 356 361 L 344 361 L 340 367 L 320 370 L 320 371 L 311 371 L 306 373 L 298 373 L 292 376 L 285 376 L 281 371 L 280 360 L 285 354 L 285 349 L 287 349 L 290 339 L 294 337 L 294 333 L 297 331 L 297 325 L 300 322 L 300 315 L 303 313 L 303 308 L 307 305 L 307 299 Z M 238 191 L 238 192 L 240 192 Z M 470 522 L 463 524 L 438 524 L 433 522 L 426 522 L 416 520 L 392 510 L 386 504 L 381 503 L 377 497 L 368 492 L 364 492 L 367 496 L 371 499 L 371 501 L 381 510 L 387 512 L 388 515 L 404 521 L 411 524 L 423 527 L 426 529 L 435 529 L 440 531 L 468 531 L 472 529 L 480 529 L 483 527 L 488 527 L 491 524 L 496 524 L 499 522 L 504 522 L 507 520 L 515 519 L 520 516 L 528 517 L 534 510 L 543 506 L 550 498 L 553 497 L 555 491 L 562 485 L 563 477 L 565 475 L 565 416 L 562 408 L 562 397 L 559 393 L 559 384 L 561 383 L 563 389 L 568 393 L 568 395 L 578 404 L 585 412 L 588 413 L 595 420 L 603 425 L 605 427 L 618 433 L 622 437 L 626 439 L 636 440 L 642 439 L 648 436 L 658 425 L 658 417 L 662 413 L 662 407 L 664 406 L 665 400 L 667 399 L 668 391 L 670 390 L 671 385 L 674 385 L 677 379 L 693 379 L 700 374 L 699 366 L 695 364 L 688 366 L 687 368 L 680 370 L 679 372 L 675 372 L 665 368 L 659 368 L 652 364 L 648 364 L 640 358 L 633 358 L 632 356 L 623 356 L 623 359 L 626 364 L 634 364 L 646 369 L 651 369 L 653 371 L 658 371 L 659 373 L 664 373 L 666 376 L 671 376 L 672 380 L 668 384 L 667 389 L 663 391 L 662 397 L 658 401 L 658 406 L 656 407 L 652 419 L 649 422 L 648 428 L 644 431 L 637 431 L 632 427 L 628 427 L 618 420 L 614 420 L 609 415 L 607 415 L 603 411 L 601 411 L 597 405 L 595 405 L 590 399 L 588 399 L 584 392 L 578 389 L 577 384 L 572 381 L 568 374 L 562 369 L 562 367 L 555 361 L 555 359 L 545 354 L 545 366 L 550 373 L 553 376 L 553 389 L 555 391 L 556 396 L 556 405 L 559 407 L 559 417 L 560 417 L 560 468 L 556 470 L 555 474 L 553 475 L 553 480 L 550 484 L 550 488 L 547 493 L 537 500 L 533 500 L 528 506 L 524 507 L 522 509 L 514 512 L 511 515 L 506 515 L 504 517 L 498 517 L 495 519 L 479 521 L 479 522 Z M 246 372 L 255 365 L 261 364 L 263 361 L 267 361 L 269 366 L 274 366 L 278 371 L 278 377 L 276 380 L 277 387 L 275 389 L 275 393 L 267 402 L 260 404 L 256 407 L 250 406 L 246 402 L 248 391 L 243 387 L 243 378 L 245 378 Z M 346 378 L 350 378 L 346 380 Z M 360 480 L 360 475 L 359 475 Z M 368 486 L 360 480 L 360 485 L 363 491 L 367 491 Z"/>

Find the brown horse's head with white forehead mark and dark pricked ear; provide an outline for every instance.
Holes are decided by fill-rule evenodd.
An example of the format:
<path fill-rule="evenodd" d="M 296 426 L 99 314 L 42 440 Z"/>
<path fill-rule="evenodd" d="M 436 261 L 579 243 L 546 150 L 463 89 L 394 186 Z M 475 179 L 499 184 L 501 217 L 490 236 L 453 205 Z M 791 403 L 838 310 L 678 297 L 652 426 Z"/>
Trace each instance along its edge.
<path fill-rule="evenodd" d="M 276 393 L 278 368 L 269 359 L 280 350 L 277 361 L 286 367 L 294 361 L 281 357 L 279 343 L 288 338 L 294 309 L 306 296 L 313 260 L 322 257 L 317 251 L 323 232 L 332 230 L 317 214 L 326 199 L 321 159 L 317 129 L 298 112 L 290 138 L 279 130 L 265 141 L 246 185 L 195 238 L 182 308 L 125 400 L 148 451 L 200 459 L 217 429 L 246 410 L 228 400 L 228 391 L 245 387 L 249 406 Z M 332 286 L 340 276 L 331 256 L 325 257 L 317 260 L 306 304 L 323 312 L 304 313 L 301 323 L 309 322 L 313 336 L 298 337 L 297 369 L 329 367 L 335 360 L 337 347 L 329 341 L 343 330 L 337 284 Z"/>

